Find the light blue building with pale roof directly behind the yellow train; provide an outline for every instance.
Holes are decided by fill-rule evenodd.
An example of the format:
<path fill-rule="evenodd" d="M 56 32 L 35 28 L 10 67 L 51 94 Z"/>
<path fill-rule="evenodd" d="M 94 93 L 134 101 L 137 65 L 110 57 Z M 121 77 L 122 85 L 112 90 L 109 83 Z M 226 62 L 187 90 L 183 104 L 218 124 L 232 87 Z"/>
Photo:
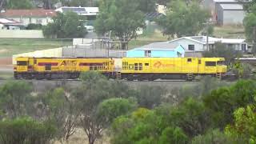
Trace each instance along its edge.
<path fill-rule="evenodd" d="M 126 57 L 129 58 L 182 58 L 184 54 L 185 50 L 182 46 L 170 47 L 166 42 L 151 43 L 150 45 L 126 51 Z"/>

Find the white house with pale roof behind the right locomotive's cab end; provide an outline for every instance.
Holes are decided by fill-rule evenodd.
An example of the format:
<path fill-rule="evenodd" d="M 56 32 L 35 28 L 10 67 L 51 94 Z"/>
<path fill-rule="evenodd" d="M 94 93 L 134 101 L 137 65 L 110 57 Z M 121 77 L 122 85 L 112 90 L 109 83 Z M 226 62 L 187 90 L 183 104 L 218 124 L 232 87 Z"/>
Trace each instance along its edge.
<path fill-rule="evenodd" d="M 226 44 L 226 46 L 234 48 L 238 51 L 246 51 L 247 44 L 246 39 L 231 39 L 231 38 L 208 38 L 209 49 L 214 48 L 216 42 L 221 42 Z M 193 37 L 183 37 L 174 39 L 168 42 L 170 46 L 179 46 L 181 45 L 186 52 L 202 52 L 207 50 L 207 40 L 206 36 L 193 36 Z"/>

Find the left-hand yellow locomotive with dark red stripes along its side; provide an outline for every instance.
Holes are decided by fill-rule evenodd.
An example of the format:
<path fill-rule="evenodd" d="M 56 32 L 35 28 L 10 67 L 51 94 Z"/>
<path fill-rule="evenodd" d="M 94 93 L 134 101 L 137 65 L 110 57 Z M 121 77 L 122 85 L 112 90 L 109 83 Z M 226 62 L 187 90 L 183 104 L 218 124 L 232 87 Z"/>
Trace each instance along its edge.
<path fill-rule="evenodd" d="M 14 78 L 78 78 L 81 72 L 97 70 L 113 74 L 112 58 L 16 58 Z"/>

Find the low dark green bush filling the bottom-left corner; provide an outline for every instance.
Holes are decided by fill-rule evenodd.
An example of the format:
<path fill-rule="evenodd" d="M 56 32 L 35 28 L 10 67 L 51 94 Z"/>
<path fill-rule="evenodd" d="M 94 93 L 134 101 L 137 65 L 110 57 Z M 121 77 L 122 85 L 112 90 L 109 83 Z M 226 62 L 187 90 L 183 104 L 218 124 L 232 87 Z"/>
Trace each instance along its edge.
<path fill-rule="evenodd" d="M 0 122 L 2 144 L 45 144 L 54 138 L 55 127 L 31 118 L 5 119 Z"/>

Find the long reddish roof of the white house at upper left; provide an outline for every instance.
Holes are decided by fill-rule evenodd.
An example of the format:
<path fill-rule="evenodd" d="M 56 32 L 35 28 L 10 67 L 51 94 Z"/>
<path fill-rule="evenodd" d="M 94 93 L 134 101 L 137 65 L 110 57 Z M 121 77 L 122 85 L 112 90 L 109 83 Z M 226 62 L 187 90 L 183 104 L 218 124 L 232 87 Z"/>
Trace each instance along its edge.
<path fill-rule="evenodd" d="M 54 10 L 43 10 L 43 9 L 34 9 L 34 10 L 6 10 L 0 15 L 8 18 L 12 17 L 54 17 L 56 12 Z"/>

